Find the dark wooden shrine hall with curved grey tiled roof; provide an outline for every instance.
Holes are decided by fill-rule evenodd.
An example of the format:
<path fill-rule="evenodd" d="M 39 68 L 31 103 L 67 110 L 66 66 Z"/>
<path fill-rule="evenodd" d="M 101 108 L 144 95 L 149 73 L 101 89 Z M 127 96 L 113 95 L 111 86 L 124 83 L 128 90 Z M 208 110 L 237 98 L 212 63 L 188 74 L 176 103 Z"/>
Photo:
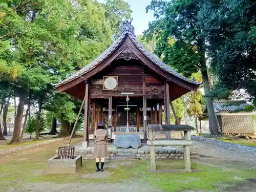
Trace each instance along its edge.
<path fill-rule="evenodd" d="M 130 20 L 125 20 L 117 40 L 56 89 L 85 99 L 83 147 L 87 147 L 98 121 L 116 132 L 128 120 L 129 130 L 142 131 L 146 141 L 147 124 L 170 124 L 169 102 L 196 91 L 199 84 L 147 51 L 136 39 Z"/>

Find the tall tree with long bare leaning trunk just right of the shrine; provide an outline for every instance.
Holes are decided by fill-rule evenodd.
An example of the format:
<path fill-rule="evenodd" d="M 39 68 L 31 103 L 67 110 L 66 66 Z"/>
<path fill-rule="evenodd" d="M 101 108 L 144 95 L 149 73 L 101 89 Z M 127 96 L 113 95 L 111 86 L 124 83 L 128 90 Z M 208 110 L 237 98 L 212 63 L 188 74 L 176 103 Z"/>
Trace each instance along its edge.
<path fill-rule="evenodd" d="M 157 18 L 150 23 L 145 37 L 157 35 L 155 53 L 174 67 L 178 72 L 188 76 L 201 71 L 209 115 L 210 133 L 220 133 L 220 126 L 209 97 L 210 86 L 206 66 L 206 39 L 199 17 L 201 2 L 198 0 L 153 0 L 146 10 L 153 10 Z M 153 29 L 153 30 L 152 30 Z M 175 40 L 175 42 L 174 42 Z"/>

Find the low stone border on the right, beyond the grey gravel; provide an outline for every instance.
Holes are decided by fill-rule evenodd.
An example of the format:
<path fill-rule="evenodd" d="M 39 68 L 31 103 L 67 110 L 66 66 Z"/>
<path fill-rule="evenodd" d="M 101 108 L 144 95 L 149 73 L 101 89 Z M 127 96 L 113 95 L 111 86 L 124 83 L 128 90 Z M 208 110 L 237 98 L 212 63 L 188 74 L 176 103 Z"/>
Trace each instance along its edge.
<path fill-rule="evenodd" d="M 195 141 L 200 141 L 200 142 L 204 142 L 207 144 L 215 145 L 215 146 L 224 147 L 224 148 L 227 148 L 228 150 L 232 150 L 232 151 L 240 151 L 243 153 L 249 152 L 252 155 L 256 156 L 256 147 L 228 143 L 225 141 L 217 141 L 214 139 L 208 139 L 208 138 L 200 137 L 200 136 L 191 136 L 191 139 L 193 139 Z"/>

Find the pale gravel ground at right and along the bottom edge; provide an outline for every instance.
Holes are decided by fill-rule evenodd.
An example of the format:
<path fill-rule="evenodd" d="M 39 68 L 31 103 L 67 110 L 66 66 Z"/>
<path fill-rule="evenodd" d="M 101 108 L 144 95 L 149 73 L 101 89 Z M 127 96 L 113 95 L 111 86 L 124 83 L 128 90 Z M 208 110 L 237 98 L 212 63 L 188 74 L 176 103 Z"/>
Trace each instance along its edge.
<path fill-rule="evenodd" d="M 193 160 L 198 163 L 207 164 L 210 166 L 222 167 L 224 169 L 234 169 L 234 165 L 245 165 L 248 168 L 256 167 L 256 158 L 250 153 L 242 153 L 239 151 L 228 151 L 225 148 L 216 147 L 214 145 L 204 144 L 202 142 L 193 141 L 194 145 L 190 146 L 190 150 L 193 153 L 199 153 L 200 158 L 198 160 Z M 111 165 L 112 166 L 112 165 Z M 116 164 L 113 164 L 115 167 Z M 107 173 L 107 172 L 106 172 Z M 111 174 L 111 173 L 109 173 Z M 93 174 L 92 174 L 93 175 Z M 239 178 L 238 178 L 239 179 Z M 86 180 L 86 179 L 85 179 Z M 68 182 L 68 181 L 67 181 Z M 1 190 L 0 190 L 1 191 Z M 56 184 L 49 182 L 31 183 L 23 185 L 22 188 L 15 187 L 9 188 L 6 192 L 66 192 L 66 191 L 76 191 L 76 192 L 161 192 L 162 190 L 152 188 L 150 185 L 143 183 L 141 181 L 127 181 L 112 184 L 80 184 L 80 183 L 66 183 L 66 184 Z M 246 181 L 240 184 L 235 184 L 234 186 L 221 186 L 218 189 L 219 192 L 225 191 L 256 191 L 256 180 Z M 182 192 L 179 191 L 179 192 Z M 209 192 L 205 190 L 183 190 L 183 192 Z"/>

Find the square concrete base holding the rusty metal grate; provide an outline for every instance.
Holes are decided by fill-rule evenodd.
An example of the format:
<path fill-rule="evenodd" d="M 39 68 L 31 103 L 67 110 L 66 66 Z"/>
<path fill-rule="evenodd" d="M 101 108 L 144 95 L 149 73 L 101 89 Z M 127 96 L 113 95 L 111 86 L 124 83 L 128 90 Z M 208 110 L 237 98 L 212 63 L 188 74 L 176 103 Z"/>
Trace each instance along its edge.
<path fill-rule="evenodd" d="M 75 156 L 74 159 L 59 159 L 54 156 L 47 161 L 47 174 L 75 174 L 82 167 L 82 156 Z"/>

